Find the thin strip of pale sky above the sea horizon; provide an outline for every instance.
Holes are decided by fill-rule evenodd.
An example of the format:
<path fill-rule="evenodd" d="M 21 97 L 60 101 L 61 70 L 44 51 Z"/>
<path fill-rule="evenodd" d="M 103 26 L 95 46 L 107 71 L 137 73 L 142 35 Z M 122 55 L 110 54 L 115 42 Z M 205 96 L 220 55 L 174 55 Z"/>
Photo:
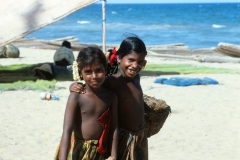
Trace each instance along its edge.
<path fill-rule="evenodd" d="M 230 3 L 240 0 L 106 0 L 107 3 Z"/>

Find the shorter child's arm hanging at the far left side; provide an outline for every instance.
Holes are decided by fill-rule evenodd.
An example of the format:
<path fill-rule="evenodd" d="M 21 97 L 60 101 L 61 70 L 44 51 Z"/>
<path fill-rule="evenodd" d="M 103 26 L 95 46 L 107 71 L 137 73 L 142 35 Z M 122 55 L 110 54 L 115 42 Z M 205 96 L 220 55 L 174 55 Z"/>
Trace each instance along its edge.
<path fill-rule="evenodd" d="M 74 117 L 78 107 L 78 94 L 70 93 L 64 115 L 63 133 L 60 144 L 59 160 L 66 160 L 70 147 L 70 138 L 74 126 Z"/>

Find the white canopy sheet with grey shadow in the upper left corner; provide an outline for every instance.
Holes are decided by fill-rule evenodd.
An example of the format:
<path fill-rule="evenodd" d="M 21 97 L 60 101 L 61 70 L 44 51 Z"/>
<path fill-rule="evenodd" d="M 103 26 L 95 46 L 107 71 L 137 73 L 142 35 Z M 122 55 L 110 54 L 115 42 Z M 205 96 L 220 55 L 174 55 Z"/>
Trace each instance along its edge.
<path fill-rule="evenodd" d="M 98 1 L 1 0 L 0 47 Z"/>

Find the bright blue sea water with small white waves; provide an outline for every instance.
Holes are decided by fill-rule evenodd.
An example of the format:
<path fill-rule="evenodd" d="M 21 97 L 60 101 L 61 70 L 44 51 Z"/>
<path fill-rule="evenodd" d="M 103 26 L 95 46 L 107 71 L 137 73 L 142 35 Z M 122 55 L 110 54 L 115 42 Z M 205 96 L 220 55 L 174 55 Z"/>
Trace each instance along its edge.
<path fill-rule="evenodd" d="M 185 43 L 191 49 L 240 44 L 240 3 L 106 4 L 106 43 L 136 34 L 146 45 Z M 26 38 L 75 36 L 102 43 L 102 5 L 87 6 Z"/>

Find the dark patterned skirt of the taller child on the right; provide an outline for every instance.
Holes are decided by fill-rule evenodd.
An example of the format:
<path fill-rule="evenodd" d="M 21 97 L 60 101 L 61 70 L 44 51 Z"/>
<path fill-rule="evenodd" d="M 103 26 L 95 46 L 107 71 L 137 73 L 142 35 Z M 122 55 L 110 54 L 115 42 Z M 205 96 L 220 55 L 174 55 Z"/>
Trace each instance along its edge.
<path fill-rule="evenodd" d="M 136 135 L 119 128 L 118 160 L 148 160 L 148 140 L 145 130 Z"/>

